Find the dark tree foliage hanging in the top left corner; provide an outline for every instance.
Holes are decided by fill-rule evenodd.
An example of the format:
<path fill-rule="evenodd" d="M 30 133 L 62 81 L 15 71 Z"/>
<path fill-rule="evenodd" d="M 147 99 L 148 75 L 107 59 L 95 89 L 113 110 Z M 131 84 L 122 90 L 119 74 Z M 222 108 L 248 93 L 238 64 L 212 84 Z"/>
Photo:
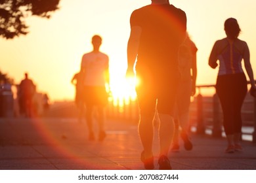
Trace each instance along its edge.
<path fill-rule="evenodd" d="M 60 0 L 0 0 L 0 37 L 12 39 L 28 33 L 25 18 L 50 18 Z"/>

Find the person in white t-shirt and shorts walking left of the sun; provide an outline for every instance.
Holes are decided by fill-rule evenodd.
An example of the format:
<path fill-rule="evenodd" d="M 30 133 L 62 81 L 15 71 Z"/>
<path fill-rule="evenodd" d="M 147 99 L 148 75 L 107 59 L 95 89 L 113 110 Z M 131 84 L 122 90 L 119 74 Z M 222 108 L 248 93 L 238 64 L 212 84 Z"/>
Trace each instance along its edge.
<path fill-rule="evenodd" d="M 81 69 L 85 71 L 84 78 L 84 100 L 85 119 L 89 128 L 89 140 L 95 139 L 93 131 L 93 107 L 98 112 L 98 140 L 103 141 L 106 137 L 104 130 L 105 111 L 104 107 L 108 103 L 108 93 L 106 84 L 109 86 L 108 56 L 100 52 L 102 38 L 98 35 L 92 39 L 93 51 L 83 55 Z"/>

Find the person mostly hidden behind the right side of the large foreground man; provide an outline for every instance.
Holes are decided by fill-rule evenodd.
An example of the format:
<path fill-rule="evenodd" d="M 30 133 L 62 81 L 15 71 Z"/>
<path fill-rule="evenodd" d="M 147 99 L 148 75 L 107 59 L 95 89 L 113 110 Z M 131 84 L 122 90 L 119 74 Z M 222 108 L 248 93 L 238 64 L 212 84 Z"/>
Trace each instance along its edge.
<path fill-rule="evenodd" d="M 198 48 L 187 35 L 185 41 L 179 48 L 179 68 L 181 71 L 181 82 L 177 93 L 175 135 L 172 150 L 179 150 L 179 131 L 184 141 L 184 148 L 192 150 L 193 145 L 188 137 L 189 132 L 189 107 L 190 97 L 196 93 L 196 52 Z"/>

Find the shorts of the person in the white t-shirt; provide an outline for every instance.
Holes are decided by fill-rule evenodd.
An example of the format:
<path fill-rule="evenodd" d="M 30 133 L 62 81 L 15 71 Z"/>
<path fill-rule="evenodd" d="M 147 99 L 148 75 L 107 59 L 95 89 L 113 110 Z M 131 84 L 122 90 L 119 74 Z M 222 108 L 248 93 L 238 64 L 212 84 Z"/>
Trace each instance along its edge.
<path fill-rule="evenodd" d="M 105 106 L 108 103 L 108 93 L 104 86 L 85 86 L 83 88 L 85 105 Z"/>

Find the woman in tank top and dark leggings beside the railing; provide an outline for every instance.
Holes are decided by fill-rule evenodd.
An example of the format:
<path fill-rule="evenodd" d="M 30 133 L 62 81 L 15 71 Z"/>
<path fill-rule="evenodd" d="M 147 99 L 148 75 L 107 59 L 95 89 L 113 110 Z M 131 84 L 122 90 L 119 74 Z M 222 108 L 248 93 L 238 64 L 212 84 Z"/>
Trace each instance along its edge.
<path fill-rule="evenodd" d="M 240 137 L 242 132 L 241 108 L 247 93 L 247 80 L 242 69 L 242 59 L 249 76 L 251 88 L 255 89 L 253 70 L 251 69 L 249 48 L 245 41 L 238 39 L 240 27 L 234 18 L 224 22 L 226 38 L 215 42 L 209 65 L 215 69 L 219 60 L 216 92 L 223 109 L 223 126 L 228 146 L 226 153 L 241 151 Z"/>

